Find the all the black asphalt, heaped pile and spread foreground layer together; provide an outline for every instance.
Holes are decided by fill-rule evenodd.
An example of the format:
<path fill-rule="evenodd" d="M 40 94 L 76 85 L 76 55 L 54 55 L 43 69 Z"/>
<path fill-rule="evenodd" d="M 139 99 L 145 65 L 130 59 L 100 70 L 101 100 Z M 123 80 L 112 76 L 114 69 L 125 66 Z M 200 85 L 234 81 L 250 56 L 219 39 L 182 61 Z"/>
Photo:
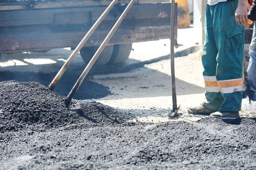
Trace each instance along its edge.
<path fill-rule="evenodd" d="M 3 170 L 256 169 L 255 118 L 129 123 L 125 114 L 139 110 L 90 101 L 67 109 L 63 96 L 35 82 L 0 87 Z"/>

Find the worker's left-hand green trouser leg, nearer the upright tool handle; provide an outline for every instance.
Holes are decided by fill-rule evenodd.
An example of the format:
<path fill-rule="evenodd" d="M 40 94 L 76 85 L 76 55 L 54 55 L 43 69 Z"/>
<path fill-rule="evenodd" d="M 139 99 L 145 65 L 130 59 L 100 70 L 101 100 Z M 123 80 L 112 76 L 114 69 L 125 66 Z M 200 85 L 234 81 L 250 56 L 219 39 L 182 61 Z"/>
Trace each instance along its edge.
<path fill-rule="evenodd" d="M 223 102 L 223 97 L 219 92 L 217 80 L 216 80 L 216 57 L 218 55 L 218 49 L 216 47 L 215 34 L 213 28 L 214 21 L 214 6 L 207 5 L 205 15 L 205 42 L 202 53 L 202 64 L 204 67 L 204 81 L 205 81 L 205 96 L 206 102 L 203 106 L 214 111 L 218 111 Z"/>

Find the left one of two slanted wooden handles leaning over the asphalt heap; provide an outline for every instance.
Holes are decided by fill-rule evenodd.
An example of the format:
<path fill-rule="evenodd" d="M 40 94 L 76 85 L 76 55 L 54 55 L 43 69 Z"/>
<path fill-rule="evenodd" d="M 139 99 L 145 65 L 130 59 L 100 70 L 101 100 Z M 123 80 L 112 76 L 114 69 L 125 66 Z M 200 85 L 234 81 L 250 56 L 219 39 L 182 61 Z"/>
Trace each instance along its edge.
<path fill-rule="evenodd" d="M 104 18 L 107 16 L 108 12 L 113 8 L 113 6 L 116 4 L 118 0 L 113 0 L 112 3 L 108 6 L 108 8 L 103 12 L 103 14 L 99 17 L 99 19 L 96 21 L 96 23 L 93 24 L 92 28 L 87 32 L 87 34 L 84 36 L 84 38 L 81 40 L 79 45 L 76 47 L 76 49 L 73 51 L 73 53 L 70 55 L 70 57 L 67 59 L 67 61 L 64 63 L 64 65 L 61 67 L 58 74 L 54 77 L 51 84 L 48 86 L 50 90 L 53 90 L 55 88 L 55 85 L 61 78 L 61 76 L 64 74 L 64 72 L 67 70 L 70 63 L 73 61 L 73 59 L 76 57 L 76 54 L 81 50 L 81 48 L 84 46 L 85 42 L 90 38 L 90 36 L 93 34 L 93 32 L 96 30 L 96 28 L 99 26 L 99 24 L 104 20 Z"/>

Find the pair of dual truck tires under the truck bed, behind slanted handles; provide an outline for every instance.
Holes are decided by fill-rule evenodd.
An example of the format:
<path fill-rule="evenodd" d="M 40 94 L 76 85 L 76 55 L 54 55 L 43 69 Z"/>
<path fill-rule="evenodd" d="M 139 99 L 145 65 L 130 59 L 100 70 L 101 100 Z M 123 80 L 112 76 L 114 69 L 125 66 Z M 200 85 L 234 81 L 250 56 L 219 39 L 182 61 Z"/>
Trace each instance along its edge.
<path fill-rule="evenodd" d="M 96 60 L 95 65 L 111 65 L 125 62 L 131 53 L 132 44 L 117 44 L 106 46 L 99 58 Z M 99 46 L 83 47 L 80 54 L 85 63 L 90 62 L 90 59 L 98 50 Z"/>

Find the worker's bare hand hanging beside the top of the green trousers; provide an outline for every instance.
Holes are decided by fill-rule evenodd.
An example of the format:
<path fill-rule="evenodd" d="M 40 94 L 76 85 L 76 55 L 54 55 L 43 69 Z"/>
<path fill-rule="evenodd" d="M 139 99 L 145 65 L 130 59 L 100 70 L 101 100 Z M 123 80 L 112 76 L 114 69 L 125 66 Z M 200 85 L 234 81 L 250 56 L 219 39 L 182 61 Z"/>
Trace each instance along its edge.
<path fill-rule="evenodd" d="M 246 5 L 238 5 L 238 7 L 236 8 L 236 23 L 239 26 L 244 26 L 247 21 L 247 7 Z"/>

